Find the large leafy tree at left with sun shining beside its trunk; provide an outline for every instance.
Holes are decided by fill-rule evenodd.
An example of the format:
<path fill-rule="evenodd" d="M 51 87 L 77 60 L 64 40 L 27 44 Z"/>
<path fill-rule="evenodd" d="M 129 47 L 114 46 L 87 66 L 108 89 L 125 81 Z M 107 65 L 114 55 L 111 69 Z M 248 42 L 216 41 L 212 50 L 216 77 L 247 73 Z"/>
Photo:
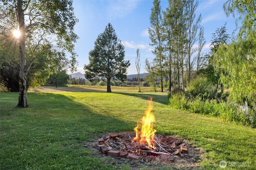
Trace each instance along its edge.
<path fill-rule="evenodd" d="M 78 22 L 74 16 L 72 0 L 2 0 L 1 25 L 20 32 L 19 40 L 19 99 L 17 107 L 28 107 L 27 73 L 30 71 L 37 55 L 27 62 L 28 40 L 37 49 L 42 44 L 56 49 L 65 57 L 70 53 L 70 68 L 76 70 L 76 53 L 74 43 L 78 36 L 74 26 Z M 1 30 L 2 32 L 2 30 Z"/>

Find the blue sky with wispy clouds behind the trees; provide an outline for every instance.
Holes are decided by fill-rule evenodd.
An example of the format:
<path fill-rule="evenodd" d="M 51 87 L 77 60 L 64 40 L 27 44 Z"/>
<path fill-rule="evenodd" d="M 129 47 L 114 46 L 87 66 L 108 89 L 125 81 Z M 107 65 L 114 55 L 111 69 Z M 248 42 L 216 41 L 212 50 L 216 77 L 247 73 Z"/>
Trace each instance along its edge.
<path fill-rule="evenodd" d="M 226 24 L 227 33 L 232 34 L 235 19 L 226 17 L 222 9 L 226 0 L 199 0 L 196 14 L 202 14 L 201 26 L 204 27 L 206 45 L 204 52 L 209 51 L 212 33 Z M 168 7 L 168 1 L 161 1 L 162 10 Z M 75 44 L 78 54 L 77 71 L 84 74 L 84 64 L 88 64 L 88 53 L 94 48 L 94 42 L 99 34 L 104 32 L 108 23 L 111 23 L 118 38 L 125 47 L 125 60 L 130 60 L 128 75 L 137 74 L 135 59 L 136 49 L 140 49 L 140 73 L 145 73 L 145 60 L 152 61 L 154 55 L 148 37 L 150 27 L 150 14 L 153 0 L 74 0 L 74 13 L 79 22 L 75 26 L 75 33 L 79 40 Z M 196 45 L 196 44 L 195 44 Z M 68 73 L 71 73 L 68 71 Z"/>

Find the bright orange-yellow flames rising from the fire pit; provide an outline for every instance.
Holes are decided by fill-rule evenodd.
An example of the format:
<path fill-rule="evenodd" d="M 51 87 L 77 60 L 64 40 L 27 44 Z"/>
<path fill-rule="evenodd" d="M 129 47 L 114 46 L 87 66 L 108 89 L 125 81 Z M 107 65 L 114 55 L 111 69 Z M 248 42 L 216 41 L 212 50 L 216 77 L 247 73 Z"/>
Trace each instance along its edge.
<path fill-rule="evenodd" d="M 152 113 L 153 105 L 152 105 L 152 97 L 149 97 L 148 109 L 145 111 L 144 116 L 141 121 L 141 130 L 139 130 L 140 124 L 137 123 L 137 127 L 133 130 L 136 132 L 136 137 L 133 139 L 133 142 L 148 143 L 148 147 L 150 149 L 155 149 L 154 135 L 156 130 L 153 129 L 153 123 L 155 121 L 155 116 Z"/>

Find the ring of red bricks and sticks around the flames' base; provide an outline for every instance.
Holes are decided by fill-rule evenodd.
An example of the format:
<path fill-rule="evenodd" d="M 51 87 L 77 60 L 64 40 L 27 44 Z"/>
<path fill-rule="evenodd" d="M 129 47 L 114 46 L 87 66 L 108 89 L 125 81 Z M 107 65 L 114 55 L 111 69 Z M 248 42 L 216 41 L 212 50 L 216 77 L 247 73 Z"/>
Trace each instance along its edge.
<path fill-rule="evenodd" d="M 173 162 L 174 158 L 182 158 L 188 154 L 187 144 L 171 136 L 154 135 L 154 148 L 146 143 L 133 141 L 135 134 L 110 134 L 98 139 L 97 148 L 102 153 L 131 160 L 144 159 Z"/>

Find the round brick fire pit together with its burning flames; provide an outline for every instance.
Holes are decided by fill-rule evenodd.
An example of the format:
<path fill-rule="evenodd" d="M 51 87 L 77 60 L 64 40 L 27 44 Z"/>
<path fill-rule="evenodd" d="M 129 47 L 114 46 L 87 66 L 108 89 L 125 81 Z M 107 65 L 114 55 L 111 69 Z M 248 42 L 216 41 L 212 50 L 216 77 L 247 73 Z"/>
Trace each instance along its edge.
<path fill-rule="evenodd" d="M 188 148 L 178 138 L 156 135 L 153 128 L 155 117 L 152 113 L 152 97 L 144 116 L 137 127 L 135 134 L 110 134 L 98 139 L 97 148 L 104 154 L 125 157 L 131 160 L 144 159 L 145 161 L 160 159 L 172 162 L 175 157 L 188 154 Z"/>

